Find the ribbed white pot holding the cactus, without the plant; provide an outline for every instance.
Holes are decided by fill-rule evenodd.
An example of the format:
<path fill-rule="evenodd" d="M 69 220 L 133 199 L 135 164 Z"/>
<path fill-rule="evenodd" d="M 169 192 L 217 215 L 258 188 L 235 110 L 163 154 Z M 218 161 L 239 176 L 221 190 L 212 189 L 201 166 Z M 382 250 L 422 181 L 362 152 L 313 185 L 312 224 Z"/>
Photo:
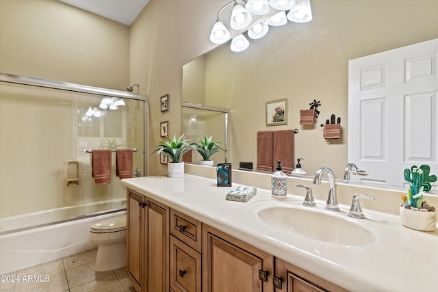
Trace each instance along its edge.
<path fill-rule="evenodd" d="M 400 204 L 402 225 L 420 231 L 433 231 L 437 225 L 437 211 L 420 212 L 406 209 Z"/>

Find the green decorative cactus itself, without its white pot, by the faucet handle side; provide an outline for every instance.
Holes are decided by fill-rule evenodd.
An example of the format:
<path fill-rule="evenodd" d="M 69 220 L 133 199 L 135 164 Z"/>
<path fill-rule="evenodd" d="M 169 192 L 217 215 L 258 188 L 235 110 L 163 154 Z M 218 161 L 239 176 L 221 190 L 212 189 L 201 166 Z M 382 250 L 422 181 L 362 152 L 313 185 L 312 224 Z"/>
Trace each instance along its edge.
<path fill-rule="evenodd" d="M 409 168 L 404 170 L 404 180 L 411 183 L 411 187 L 408 190 L 408 198 L 405 202 L 409 202 L 412 207 L 420 209 L 423 202 L 423 194 L 425 191 L 430 191 L 433 183 L 437 181 L 436 175 L 429 175 L 429 165 L 423 164 L 420 168 L 417 165 L 412 165 L 411 170 Z"/>

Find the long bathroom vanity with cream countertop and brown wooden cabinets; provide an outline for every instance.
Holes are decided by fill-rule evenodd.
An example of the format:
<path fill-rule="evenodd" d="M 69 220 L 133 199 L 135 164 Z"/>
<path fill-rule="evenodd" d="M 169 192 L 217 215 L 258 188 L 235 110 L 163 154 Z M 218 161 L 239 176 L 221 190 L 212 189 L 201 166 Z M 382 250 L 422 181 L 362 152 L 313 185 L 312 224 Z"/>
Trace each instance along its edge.
<path fill-rule="evenodd" d="M 259 184 L 268 182 L 268 176 L 257 178 Z M 397 215 L 365 207 L 365 219 L 350 218 L 343 196 L 341 211 L 331 212 L 318 195 L 317 207 L 303 207 L 304 196 L 291 195 L 295 191 L 286 200 L 275 200 L 259 185 L 248 202 L 227 201 L 227 192 L 242 184 L 217 187 L 215 179 L 192 174 L 122 183 L 128 198 L 127 274 L 137 291 L 438 287 L 437 230 L 409 230 Z M 315 186 L 315 194 L 318 187 L 326 183 Z"/>

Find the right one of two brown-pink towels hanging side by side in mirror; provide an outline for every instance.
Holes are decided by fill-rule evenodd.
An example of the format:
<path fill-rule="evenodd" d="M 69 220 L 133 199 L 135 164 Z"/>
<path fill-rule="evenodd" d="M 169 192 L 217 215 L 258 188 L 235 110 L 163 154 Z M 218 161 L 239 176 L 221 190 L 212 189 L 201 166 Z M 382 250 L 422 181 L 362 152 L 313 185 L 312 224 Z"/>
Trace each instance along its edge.
<path fill-rule="evenodd" d="M 272 159 L 275 164 L 277 160 L 281 161 L 284 173 L 291 173 L 294 169 L 294 135 L 293 130 L 274 131 Z"/>

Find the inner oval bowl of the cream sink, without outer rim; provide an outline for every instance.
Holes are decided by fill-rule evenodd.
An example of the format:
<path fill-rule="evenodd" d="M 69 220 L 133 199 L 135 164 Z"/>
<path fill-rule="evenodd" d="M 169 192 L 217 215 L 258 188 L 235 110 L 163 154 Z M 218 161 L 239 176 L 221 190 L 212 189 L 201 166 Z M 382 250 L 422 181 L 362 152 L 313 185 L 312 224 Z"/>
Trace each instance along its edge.
<path fill-rule="evenodd" d="M 327 212 L 327 211 L 326 211 Z M 368 245 L 376 241 L 370 230 L 348 218 L 303 207 L 268 207 L 258 212 L 270 226 L 310 239 L 342 245 Z"/>

